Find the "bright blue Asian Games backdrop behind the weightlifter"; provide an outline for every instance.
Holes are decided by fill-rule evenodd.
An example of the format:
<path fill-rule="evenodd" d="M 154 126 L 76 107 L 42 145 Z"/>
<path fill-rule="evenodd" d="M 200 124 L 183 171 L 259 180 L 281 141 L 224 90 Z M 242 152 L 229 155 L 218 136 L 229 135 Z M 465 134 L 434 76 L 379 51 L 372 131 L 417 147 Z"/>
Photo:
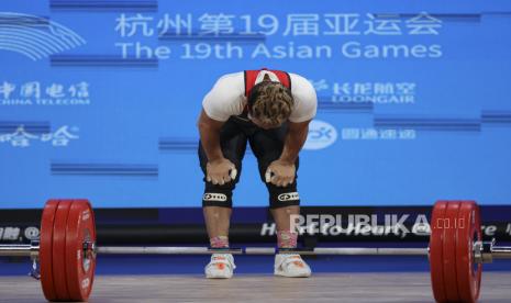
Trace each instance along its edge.
<path fill-rule="evenodd" d="M 200 206 L 218 77 L 310 79 L 304 205 L 511 203 L 511 2 L 0 3 L 0 207 Z M 249 153 L 235 205 L 266 205 Z"/>

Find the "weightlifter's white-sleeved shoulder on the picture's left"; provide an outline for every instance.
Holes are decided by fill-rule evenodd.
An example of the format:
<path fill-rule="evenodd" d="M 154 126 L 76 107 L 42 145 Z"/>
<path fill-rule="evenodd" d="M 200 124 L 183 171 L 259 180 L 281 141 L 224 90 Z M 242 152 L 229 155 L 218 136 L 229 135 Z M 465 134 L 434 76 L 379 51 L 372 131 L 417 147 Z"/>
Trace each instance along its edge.
<path fill-rule="evenodd" d="M 243 71 L 220 77 L 202 100 L 205 114 L 216 121 L 227 121 L 243 112 L 245 105 Z"/>

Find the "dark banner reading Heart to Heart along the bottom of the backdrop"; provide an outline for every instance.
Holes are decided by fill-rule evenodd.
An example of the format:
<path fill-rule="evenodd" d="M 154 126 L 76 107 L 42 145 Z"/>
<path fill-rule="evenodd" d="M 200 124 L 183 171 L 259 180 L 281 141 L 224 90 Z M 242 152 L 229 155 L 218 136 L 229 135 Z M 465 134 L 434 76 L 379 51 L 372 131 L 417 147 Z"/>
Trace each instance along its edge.
<path fill-rule="evenodd" d="M 293 197 L 292 194 L 289 197 Z M 218 197 L 219 199 L 221 197 Z M 291 222 L 307 243 L 411 242 L 426 243 L 429 207 L 302 207 Z M 482 206 L 482 236 L 511 242 L 511 206 Z M 99 209 L 95 211 L 101 244 L 195 243 L 207 239 L 202 209 Z M 277 226 L 268 209 L 238 207 L 231 224 L 237 243 L 274 243 Z M 34 211 L 0 211 L 0 243 L 38 239 L 38 215 Z M 449 222 L 453 227 L 463 222 Z"/>

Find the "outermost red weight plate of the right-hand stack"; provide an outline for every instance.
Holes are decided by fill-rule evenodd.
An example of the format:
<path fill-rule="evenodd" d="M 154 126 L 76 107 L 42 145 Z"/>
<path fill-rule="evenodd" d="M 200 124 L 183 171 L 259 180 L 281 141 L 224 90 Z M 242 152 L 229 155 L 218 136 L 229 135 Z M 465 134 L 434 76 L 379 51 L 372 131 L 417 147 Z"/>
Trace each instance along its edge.
<path fill-rule="evenodd" d="M 459 299 L 476 302 L 479 296 L 481 265 L 475 266 L 474 240 L 481 239 L 479 206 L 474 201 L 460 203 L 456 229 L 456 270 Z"/>

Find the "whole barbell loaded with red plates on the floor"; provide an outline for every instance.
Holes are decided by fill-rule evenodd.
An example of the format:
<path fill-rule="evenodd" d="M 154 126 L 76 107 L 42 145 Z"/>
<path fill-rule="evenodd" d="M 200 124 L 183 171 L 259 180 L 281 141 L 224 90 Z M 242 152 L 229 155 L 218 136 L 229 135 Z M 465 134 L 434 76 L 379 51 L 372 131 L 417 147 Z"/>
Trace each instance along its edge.
<path fill-rule="evenodd" d="M 481 240 L 479 206 L 475 201 L 437 201 L 430 221 L 427 248 L 316 247 L 279 251 L 273 247 L 222 250 L 234 255 L 385 255 L 427 256 L 436 302 L 476 302 L 482 263 L 511 258 L 511 247 Z M 0 245 L 0 256 L 31 257 L 40 266 L 41 284 L 48 301 L 87 301 L 98 254 L 208 255 L 208 247 L 98 247 L 92 207 L 88 200 L 49 200 L 41 220 L 38 242 Z"/>

